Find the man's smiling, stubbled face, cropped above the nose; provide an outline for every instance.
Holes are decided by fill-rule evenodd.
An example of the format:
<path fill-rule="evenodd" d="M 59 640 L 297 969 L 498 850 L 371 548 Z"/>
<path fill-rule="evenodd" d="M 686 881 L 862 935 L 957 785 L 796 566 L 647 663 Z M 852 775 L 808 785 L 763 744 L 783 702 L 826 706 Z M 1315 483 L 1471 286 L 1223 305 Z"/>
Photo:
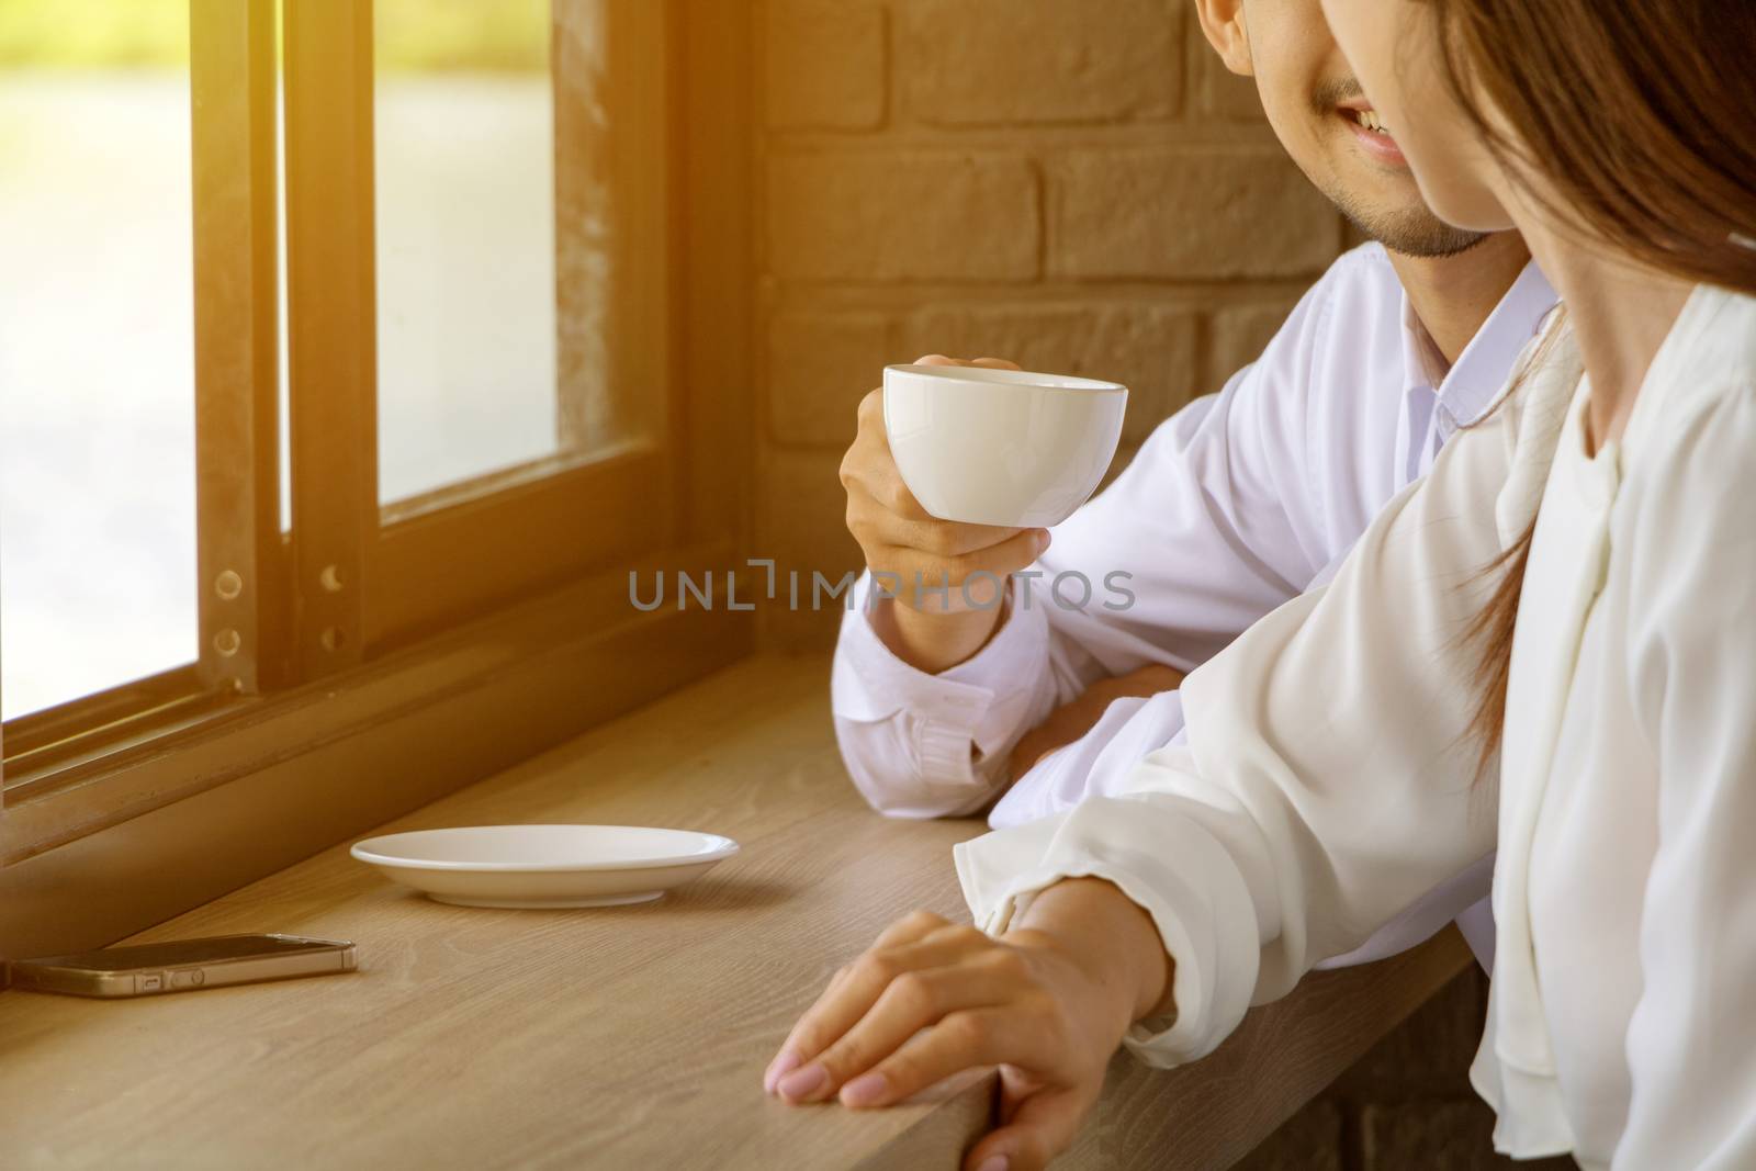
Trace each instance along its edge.
<path fill-rule="evenodd" d="M 1319 0 L 1245 0 L 1243 7 L 1263 109 L 1319 191 L 1398 253 L 1450 256 L 1482 239 L 1428 211 L 1396 140 L 1371 126 L 1377 114 Z"/>

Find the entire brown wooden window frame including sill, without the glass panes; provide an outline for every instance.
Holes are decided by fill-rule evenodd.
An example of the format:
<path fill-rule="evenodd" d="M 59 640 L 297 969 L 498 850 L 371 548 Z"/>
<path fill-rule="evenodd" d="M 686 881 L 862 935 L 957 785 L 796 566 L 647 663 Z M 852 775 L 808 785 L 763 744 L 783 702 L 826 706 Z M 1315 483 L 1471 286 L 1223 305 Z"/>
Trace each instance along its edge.
<path fill-rule="evenodd" d="M 616 2 L 662 11 L 669 39 L 666 200 L 646 221 L 662 241 L 629 241 L 658 256 L 634 270 L 666 307 L 662 344 L 636 346 L 644 374 L 630 376 L 662 386 L 662 435 L 379 509 L 376 437 L 323 446 L 337 421 L 355 439 L 376 421 L 376 349 L 358 339 L 374 307 L 371 5 L 286 0 L 283 534 L 274 7 L 191 0 L 200 658 L 7 723 L 0 957 L 18 938 L 121 938 L 753 650 L 750 614 L 641 613 L 627 595 L 630 572 L 741 572 L 750 532 L 750 18 L 716 0 Z M 334 86 L 330 119 L 349 119 L 321 146 L 313 84 Z M 316 346 L 327 330 L 355 342 Z"/>

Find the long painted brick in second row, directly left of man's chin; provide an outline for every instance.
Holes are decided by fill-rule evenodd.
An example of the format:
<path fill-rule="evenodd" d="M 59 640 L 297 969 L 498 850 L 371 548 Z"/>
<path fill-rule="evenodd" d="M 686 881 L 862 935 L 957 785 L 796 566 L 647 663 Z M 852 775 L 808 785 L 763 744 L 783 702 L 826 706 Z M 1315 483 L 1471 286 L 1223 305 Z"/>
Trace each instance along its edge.
<path fill-rule="evenodd" d="M 1280 151 L 1073 151 L 1048 183 L 1055 276 L 1315 276 L 1340 253 L 1340 212 Z"/>

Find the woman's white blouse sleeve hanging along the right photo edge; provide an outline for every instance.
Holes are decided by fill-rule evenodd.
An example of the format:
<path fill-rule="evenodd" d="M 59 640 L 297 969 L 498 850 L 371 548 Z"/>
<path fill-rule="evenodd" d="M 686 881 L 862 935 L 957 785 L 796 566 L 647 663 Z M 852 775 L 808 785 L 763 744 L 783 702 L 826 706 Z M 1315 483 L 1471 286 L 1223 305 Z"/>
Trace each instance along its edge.
<path fill-rule="evenodd" d="M 1659 797 L 1617 1171 L 1756 1166 L 1756 384 L 1670 435 L 1631 516 L 1631 685 Z"/>

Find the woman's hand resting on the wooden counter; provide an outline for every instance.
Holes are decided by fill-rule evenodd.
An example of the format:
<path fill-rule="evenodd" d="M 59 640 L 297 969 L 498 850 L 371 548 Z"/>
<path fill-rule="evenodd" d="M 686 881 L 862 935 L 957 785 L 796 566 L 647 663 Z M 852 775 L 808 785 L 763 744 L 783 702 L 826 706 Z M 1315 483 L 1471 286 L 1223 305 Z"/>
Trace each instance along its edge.
<path fill-rule="evenodd" d="M 1045 916 L 1050 930 L 994 939 L 929 911 L 892 923 L 799 1018 L 764 1088 L 788 1103 L 887 1106 L 962 1069 L 999 1066 L 1001 1127 L 975 1145 L 966 1171 L 1041 1171 L 1073 1145 L 1136 1008 L 1168 981 L 1157 932 L 1115 887 L 1082 878 L 1050 892 L 1068 895 L 1055 902 L 1087 925 L 1062 932 Z M 1073 906 L 1092 899 L 1105 902 L 1096 915 Z M 1103 930 L 1106 915 L 1133 916 L 1136 934 L 1105 946 L 1087 929 Z M 1145 946 L 1162 981 L 1141 994 Z"/>

